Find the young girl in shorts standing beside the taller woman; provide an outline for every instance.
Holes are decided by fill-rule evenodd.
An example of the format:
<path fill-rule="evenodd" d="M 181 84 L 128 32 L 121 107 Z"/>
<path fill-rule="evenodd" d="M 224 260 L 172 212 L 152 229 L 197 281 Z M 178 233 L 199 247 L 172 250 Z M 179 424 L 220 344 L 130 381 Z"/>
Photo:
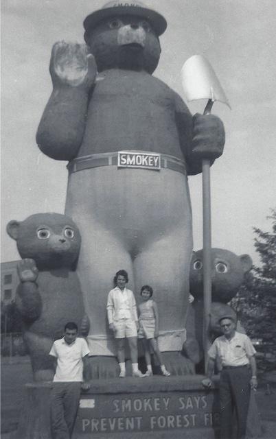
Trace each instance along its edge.
<path fill-rule="evenodd" d="M 139 305 L 139 332 L 138 338 L 143 342 L 143 348 L 145 352 L 147 372 L 146 377 L 152 375 L 152 366 L 150 361 L 150 347 L 153 349 L 157 356 L 159 364 L 161 366 L 162 375 L 165 377 L 170 376 L 170 372 L 166 370 L 163 364 L 162 355 L 159 351 L 157 337 L 159 335 L 159 314 L 157 304 L 152 300 L 152 287 L 150 285 L 143 285 L 141 287 L 141 298 L 143 302 Z"/>

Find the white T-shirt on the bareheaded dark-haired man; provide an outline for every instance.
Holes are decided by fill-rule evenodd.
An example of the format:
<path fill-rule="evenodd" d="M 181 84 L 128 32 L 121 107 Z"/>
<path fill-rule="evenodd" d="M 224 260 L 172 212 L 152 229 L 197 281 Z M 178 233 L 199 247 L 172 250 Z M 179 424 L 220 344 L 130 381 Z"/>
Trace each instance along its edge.
<path fill-rule="evenodd" d="M 54 381 L 82 381 L 82 357 L 89 354 L 84 338 L 77 337 L 75 342 L 67 344 L 64 338 L 56 340 L 49 355 L 58 359 Z"/>

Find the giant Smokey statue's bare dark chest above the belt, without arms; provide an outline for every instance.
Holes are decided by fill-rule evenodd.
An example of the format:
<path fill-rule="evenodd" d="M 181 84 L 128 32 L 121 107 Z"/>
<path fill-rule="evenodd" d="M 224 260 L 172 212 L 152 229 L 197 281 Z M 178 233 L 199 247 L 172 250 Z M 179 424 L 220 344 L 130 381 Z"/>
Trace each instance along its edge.
<path fill-rule="evenodd" d="M 111 69 L 95 84 L 78 157 L 143 150 L 183 158 L 175 95 L 146 72 Z"/>

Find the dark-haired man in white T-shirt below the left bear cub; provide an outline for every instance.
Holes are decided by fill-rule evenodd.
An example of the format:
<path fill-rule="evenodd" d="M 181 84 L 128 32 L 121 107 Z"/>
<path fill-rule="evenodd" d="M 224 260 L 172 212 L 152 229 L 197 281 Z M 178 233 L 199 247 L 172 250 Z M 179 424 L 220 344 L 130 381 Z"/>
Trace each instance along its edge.
<path fill-rule="evenodd" d="M 80 390 L 88 390 L 82 383 L 84 361 L 89 348 L 84 338 L 78 337 L 74 322 L 65 324 L 65 335 L 56 340 L 49 355 L 56 358 L 56 374 L 51 390 L 51 427 L 54 439 L 69 439 L 78 412 Z"/>

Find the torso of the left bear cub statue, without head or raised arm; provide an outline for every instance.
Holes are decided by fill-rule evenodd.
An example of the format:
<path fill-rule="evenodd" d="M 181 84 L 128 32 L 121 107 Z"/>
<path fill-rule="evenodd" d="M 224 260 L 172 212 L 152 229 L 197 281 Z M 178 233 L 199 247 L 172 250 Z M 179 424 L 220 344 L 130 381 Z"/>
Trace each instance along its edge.
<path fill-rule="evenodd" d="M 67 322 L 80 326 L 84 306 L 76 272 L 52 270 L 40 272 L 36 281 L 43 307 L 41 316 L 26 329 L 51 338 L 62 337 Z"/>

